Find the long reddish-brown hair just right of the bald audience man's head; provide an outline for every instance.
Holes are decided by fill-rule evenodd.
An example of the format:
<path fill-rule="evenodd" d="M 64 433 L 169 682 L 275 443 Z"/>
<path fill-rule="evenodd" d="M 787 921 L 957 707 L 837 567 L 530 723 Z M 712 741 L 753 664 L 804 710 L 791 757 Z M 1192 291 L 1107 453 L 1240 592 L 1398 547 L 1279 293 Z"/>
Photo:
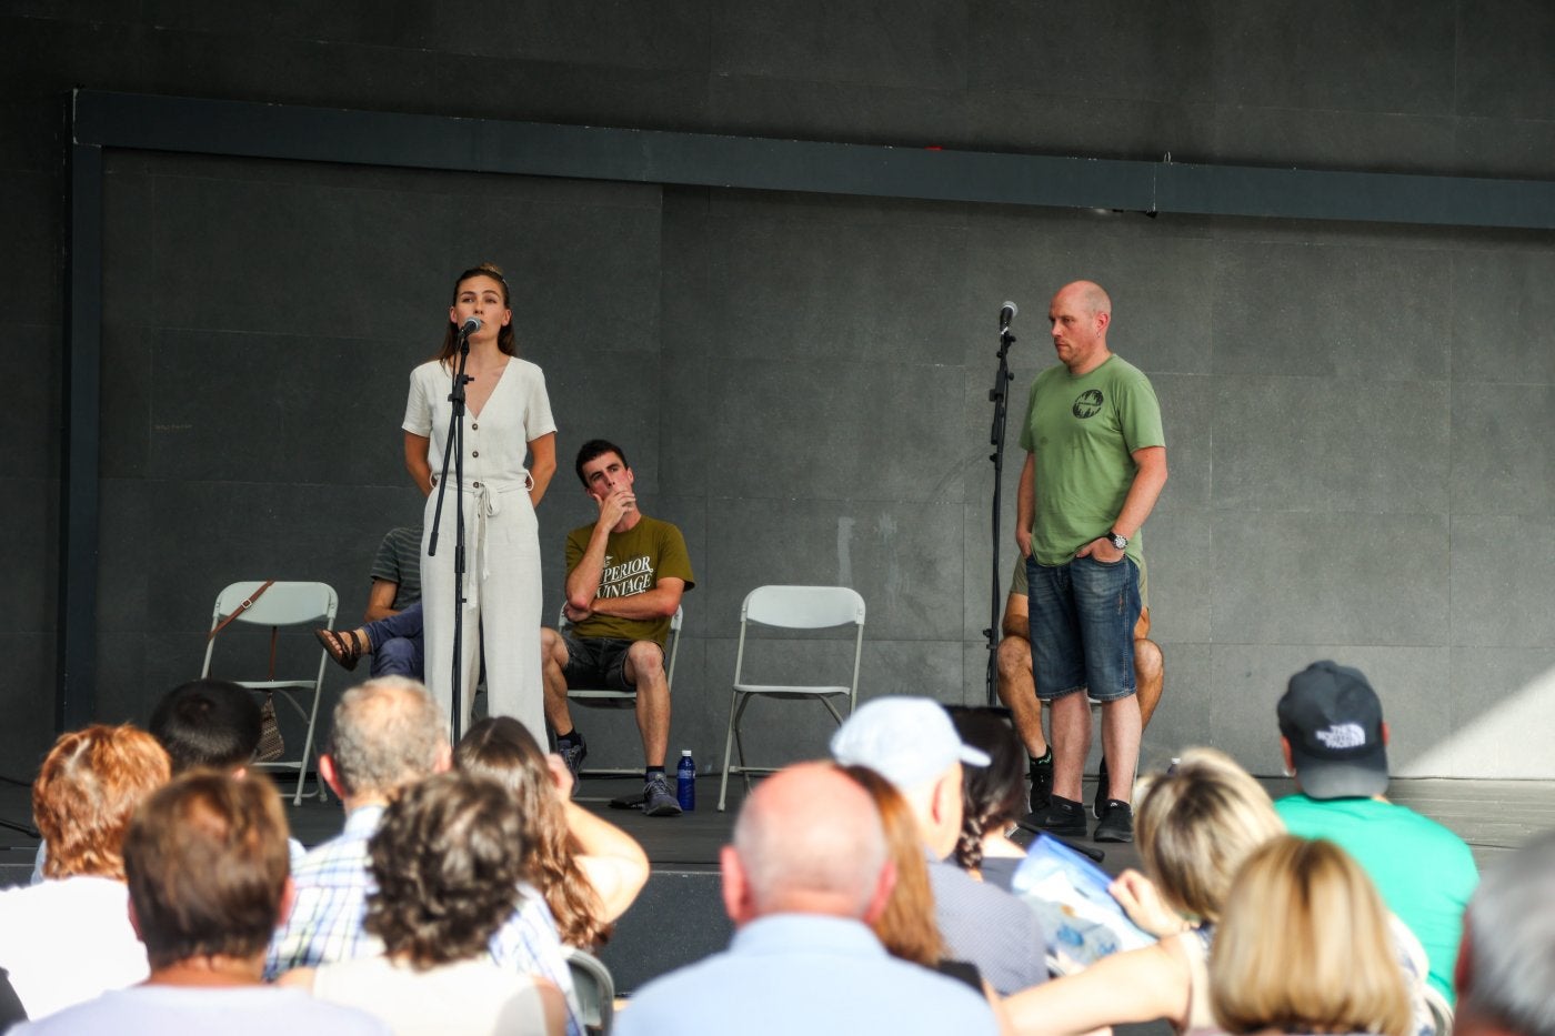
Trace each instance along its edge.
<path fill-rule="evenodd" d="M 885 831 L 886 854 L 896 866 L 891 898 L 871 924 L 875 938 L 893 957 L 931 968 L 944 955 L 944 940 L 935 926 L 935 890 L 928 884 L 924 842 L 917 834 L 913 807 L 889 781 L 869 767 L 844 767 L 843 773 L 874 800 Z"/>

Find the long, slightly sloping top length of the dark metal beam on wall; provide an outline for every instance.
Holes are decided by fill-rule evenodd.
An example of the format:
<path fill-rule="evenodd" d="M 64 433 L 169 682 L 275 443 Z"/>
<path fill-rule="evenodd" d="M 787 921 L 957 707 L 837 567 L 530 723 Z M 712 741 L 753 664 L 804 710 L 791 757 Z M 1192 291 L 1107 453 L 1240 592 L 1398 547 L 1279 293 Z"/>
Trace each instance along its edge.
<path fill-rule="evenodd" d="M 1146 213 L 1555 229 L 1555 182 L 1137 162 L 76 93 L 76 143 Z"/>

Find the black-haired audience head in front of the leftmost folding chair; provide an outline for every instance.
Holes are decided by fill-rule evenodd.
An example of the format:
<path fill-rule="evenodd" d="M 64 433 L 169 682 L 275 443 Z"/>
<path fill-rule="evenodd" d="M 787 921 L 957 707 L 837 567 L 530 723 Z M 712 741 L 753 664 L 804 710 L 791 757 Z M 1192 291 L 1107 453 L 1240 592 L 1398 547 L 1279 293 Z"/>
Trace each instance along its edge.
<path fill-rule="evenodd" d="M 260 747 L 263 728 L 253 692 L 227 680 L 179 684 L 157 702 L 149 723 L 151 736 L 168 750 L 174 773 L 246 765 Z"/>

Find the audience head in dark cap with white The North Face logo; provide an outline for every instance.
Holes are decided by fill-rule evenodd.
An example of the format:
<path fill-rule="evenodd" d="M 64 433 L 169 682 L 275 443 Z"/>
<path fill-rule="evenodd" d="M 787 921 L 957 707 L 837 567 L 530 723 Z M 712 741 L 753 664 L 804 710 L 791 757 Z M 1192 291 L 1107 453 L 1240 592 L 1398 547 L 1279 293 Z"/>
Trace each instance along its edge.
<path fill-rule="evenodd" d="M 1291 677 L 1277 711 L 1302 793 L 1370 798 L 1387 790 L 1387 723 L 1359 669 L 1312 663 Z"/>

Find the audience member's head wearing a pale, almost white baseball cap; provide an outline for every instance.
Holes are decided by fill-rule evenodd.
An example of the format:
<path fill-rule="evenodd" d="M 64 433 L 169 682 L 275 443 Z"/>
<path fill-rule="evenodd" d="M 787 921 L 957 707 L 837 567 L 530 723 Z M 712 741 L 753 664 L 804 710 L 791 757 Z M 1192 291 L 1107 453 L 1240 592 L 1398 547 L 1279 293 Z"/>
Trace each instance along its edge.
<path fill-rule="evenodd" d="M 961 837 L 961 764 L 986 767 L 984 751 L 961 744 L 942 705 L 931 698 L 883 697 L 860 705 L 832 736 L 841 765 L 869 767 L 896 786 L 936 859 Z"/>

